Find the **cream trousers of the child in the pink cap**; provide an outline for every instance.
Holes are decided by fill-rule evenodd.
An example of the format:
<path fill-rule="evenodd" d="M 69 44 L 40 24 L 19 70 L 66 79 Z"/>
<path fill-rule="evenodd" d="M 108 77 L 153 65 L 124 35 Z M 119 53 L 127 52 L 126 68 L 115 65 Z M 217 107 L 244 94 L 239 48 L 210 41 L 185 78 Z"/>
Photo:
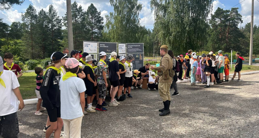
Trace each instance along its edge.
<path fill-rule="evenodd" d="M 63 119 L 64 138 L 81 138 L 82 118 Z"/>

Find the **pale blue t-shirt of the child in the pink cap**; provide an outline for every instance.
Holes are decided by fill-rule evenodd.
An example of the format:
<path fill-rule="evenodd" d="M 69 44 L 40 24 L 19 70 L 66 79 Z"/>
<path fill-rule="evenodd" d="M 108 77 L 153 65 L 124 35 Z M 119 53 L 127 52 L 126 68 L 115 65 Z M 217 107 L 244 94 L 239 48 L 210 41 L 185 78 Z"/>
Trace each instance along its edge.
<path fill-rule="evenodd" d="M 63 78 L 63 77 L 62 77 Z M 62 119 L 75 119 L 83 116 L 80 93 L 86 90 L 84 80 L 70 77 L 60 79 L 60 114 Z"/>

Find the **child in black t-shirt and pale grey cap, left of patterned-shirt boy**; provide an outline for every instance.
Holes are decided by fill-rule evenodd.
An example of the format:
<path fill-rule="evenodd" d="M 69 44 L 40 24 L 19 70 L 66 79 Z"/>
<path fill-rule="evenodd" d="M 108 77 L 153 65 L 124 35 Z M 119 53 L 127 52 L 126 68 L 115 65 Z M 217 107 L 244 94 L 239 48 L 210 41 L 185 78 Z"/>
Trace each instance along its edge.
<path fill-rule="evenodd" d="M 95 111 L 95 107 L 92 106 L 93 98 L 96 94 L 95 86 L 97 86 L 97 82 L 94 76 L 94 70 L 92 68 L 92 56 L 86 56 L 86 64 L 84 67 L 84 73 L 86 74 L 86 77 L 84 79 L 84 83 L 86 86 L 86 93 L 87 93 L 87 112 L 93 113 Z"/>

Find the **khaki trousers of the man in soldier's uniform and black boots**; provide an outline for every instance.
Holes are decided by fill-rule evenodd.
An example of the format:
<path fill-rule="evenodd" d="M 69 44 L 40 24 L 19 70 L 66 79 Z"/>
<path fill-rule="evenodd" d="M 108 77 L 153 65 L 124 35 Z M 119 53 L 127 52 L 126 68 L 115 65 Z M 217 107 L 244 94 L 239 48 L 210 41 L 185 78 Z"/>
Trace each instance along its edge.
<path fill-rule="evenodd" d="M 158 83 L 158 93 L 160 97 L 162 98 L 163 102 L 165 101 L 171 101 L 171 95 L 170 95 L 170 86 L 172 82 L 159 82 Z"/>

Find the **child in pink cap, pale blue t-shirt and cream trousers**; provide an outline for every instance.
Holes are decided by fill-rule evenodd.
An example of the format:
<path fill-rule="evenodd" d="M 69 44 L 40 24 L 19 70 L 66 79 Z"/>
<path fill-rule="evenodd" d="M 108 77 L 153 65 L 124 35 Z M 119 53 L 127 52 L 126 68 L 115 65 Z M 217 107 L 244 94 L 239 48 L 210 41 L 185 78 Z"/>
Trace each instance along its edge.
<path fill-rule="evenodd" d="M 76 73 L 82 66 L 75 58 L 68 58 L 67 73 L 60 79 L 60 114 L 64 123 L 64 137 L 81 137 L 81 124 L 84 113 L 84 80 Z"/>

